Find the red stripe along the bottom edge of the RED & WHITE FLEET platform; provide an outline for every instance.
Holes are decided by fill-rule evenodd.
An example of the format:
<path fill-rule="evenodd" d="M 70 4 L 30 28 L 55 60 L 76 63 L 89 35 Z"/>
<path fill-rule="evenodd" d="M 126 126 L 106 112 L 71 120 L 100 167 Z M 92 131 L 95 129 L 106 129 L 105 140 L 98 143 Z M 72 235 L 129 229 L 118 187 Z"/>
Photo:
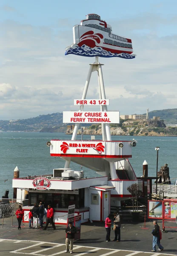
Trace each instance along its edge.
<path fill-rule="evenodd" d="M 131 158 L 131 155 L 50 154 L 51 157 Z"/>

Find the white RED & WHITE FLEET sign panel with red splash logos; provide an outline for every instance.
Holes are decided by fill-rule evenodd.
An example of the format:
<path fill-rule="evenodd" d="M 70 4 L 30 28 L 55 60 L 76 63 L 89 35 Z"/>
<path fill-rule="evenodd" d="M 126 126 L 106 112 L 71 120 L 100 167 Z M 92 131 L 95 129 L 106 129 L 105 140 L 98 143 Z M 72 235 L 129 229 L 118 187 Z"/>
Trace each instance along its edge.
<path fill-rule="evenodd" d="M 60 141 L 59 150 L 63 154 L 105 154 L 105 141 Z"/>

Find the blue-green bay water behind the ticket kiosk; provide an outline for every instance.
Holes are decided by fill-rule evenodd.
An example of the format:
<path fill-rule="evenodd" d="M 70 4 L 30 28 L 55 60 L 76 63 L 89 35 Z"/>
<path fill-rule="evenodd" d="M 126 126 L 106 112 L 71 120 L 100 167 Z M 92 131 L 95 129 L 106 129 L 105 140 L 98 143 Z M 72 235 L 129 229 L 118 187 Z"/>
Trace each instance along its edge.
<path fill-rule="evenodd" d="M 84 135 L 83 140 L 89 140 L 90 135 Z M 113 136 L 112 140 L 137 140 L 137 146 L 132 148 L 130 163 L 139 177 L 143 174 L 143 162 L 148 162 L 148 174 L 156 175 L 157 151 L 159 146 L 158 166 L 168 163 L 171 178 L 177 177 L 177 137 L 131 137 Z M 64 167 L 65 161 L 60 157 L 51 157 L 50 148 L 46 142 L 51 139 L 70 140 L 71 135 L 64 133 L 0 133 L 0 198 L 6 189 L 12 197 L 12 178 L 14 169 L 18 166 L 20 177 L 28 175 L 45 175 L 53 173 L 53 169 Z M 77 136 L 80 140 L 81 136 Z M 102 139 L 95 136 L 96 140 Z M 71 163 L 70 168 L 80 170 L 80 166 Z M 96 172 L 83 167 L 85 176 L 96 177 Z M 8 179 L 6 182 L 5 180 Z"/>

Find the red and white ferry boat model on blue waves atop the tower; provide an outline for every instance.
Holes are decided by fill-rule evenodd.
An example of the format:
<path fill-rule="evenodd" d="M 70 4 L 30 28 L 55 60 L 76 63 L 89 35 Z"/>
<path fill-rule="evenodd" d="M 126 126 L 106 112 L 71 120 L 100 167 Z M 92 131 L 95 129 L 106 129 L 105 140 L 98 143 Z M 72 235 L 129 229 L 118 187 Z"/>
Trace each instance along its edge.
<path fill-rule="evenodd" d="M 131 39 L 112 34 L 112 28 L 99 15 L 86 15 L 80 25 L 73 27 L 74 44 L 66 48 L 66 55 L 87 57 L 135 58 Z"/>

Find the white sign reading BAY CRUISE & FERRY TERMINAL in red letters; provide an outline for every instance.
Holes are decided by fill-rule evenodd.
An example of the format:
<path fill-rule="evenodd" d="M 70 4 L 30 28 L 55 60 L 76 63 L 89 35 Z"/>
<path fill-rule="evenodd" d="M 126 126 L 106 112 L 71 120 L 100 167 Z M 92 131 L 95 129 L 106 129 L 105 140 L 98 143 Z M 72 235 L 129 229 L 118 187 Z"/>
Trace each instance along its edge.
<path fill-rule="evenodd" d="M 63 111 L 63 123 L 112 123 L 119 124 L 119 111 L 86 112 Z"/>

